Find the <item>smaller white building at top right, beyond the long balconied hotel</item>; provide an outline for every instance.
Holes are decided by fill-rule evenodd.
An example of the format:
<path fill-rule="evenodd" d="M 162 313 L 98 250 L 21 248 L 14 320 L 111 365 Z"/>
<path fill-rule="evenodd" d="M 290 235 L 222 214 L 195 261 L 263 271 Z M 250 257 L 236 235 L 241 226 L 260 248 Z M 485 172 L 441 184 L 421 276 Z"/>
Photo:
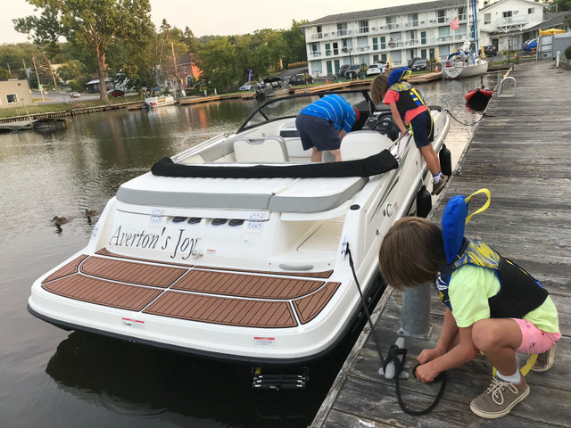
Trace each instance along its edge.
<path fill-rule="evenodd" d="M 478 12 L 478 27 L 485 45 L 498 52 L 521 49 L 529 30 L 543 21 L 544 4 L 534 0 L 500 0 Z"/>

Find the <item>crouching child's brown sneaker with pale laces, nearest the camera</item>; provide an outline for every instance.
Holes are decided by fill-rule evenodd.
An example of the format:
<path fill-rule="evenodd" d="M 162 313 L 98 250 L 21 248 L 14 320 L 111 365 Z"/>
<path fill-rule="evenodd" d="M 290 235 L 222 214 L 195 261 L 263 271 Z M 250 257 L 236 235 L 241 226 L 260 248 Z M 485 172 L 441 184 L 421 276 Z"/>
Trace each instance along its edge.
<path fill-rule="evenodd" d="M 521 376 L 521 379 L 521 385 L 516 386 L 498 377 L 493 377 L 488 389 L 472 400 L 470 410 L 486 419 L 508 415 L 511 409 L 529 394 L 529 386 L 525 382 L 525 377 Z"/>

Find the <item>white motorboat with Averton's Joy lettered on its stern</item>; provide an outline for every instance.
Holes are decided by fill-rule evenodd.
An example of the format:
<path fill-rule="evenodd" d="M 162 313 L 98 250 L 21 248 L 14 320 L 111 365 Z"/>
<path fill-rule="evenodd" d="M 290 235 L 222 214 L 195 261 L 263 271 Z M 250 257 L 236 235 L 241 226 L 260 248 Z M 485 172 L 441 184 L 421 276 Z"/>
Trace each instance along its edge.
<path fill-rule="evenodd" d="M 87 247 L 33 284 L 29 311 L 65 329 L 252 365 L 325 355 L 361 309 L 350 258 L 365 299 L 381 291 L 381 240 L 417 209 L 429 176 L 409 136 L 386 135 L 390 111 L 368 91 L 339 94 L 366 97 L 342 162 L 310 163 L 302 150 L 295 117 L 316 95 L 273 98 L 235 134 L 120 185 Z M 431 111 L 438 151 L 449 119 Z"/>

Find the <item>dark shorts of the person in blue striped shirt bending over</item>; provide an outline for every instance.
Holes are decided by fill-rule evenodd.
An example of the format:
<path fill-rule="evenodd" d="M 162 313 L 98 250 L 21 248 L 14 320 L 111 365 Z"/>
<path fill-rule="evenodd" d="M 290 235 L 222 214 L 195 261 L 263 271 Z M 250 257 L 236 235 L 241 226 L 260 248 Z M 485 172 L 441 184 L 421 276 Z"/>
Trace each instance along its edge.
<path fill-rule="evenodd" d="M 333 124 L 323 118 L 300 113 L 295 119 L 295 127 L 302 137 L 303 150 L 315 147 L 319 152 L 337 150 L 341 139 Z"/>

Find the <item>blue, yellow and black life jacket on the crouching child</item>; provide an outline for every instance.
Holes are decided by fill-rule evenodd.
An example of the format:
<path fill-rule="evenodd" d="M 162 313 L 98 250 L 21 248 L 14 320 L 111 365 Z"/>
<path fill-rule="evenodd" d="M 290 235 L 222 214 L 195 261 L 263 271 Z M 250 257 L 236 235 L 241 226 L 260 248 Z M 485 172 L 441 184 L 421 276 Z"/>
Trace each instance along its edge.
<path fill-rule="evenodd" d="M 468 216 L 468 202 L 477 193 L 485 193 L 488 201 Z M 542 305 L 547 299 L 547 290 L 514 262 L 503 258 L 482 241 L 464 235 L 468 220 L 487 209 L 490 199 L 490 191 L 480 189 L 467 198 L 454 196 L 446 204 L 441 223 L 446 264 L 441 268 L 434 286 L 443 303 L 453 310 L 448 295 L 452 274 L 464 265 L 492 269 L 500 281 L 500 292 L 488 299 L 490 317 L 522 318 Z"/>

